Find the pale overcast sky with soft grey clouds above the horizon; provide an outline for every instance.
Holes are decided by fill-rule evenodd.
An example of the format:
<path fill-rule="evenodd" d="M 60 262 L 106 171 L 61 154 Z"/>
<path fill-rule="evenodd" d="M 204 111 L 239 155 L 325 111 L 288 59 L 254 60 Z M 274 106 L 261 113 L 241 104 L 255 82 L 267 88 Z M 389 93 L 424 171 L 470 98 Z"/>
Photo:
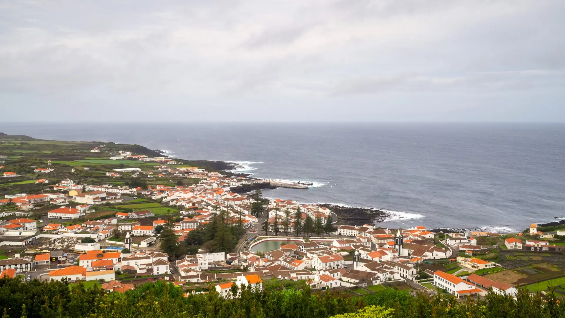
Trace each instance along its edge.
<path fill-rule="evenodd" d="M 6 0 L 0 117 L 565 122 L 564 16 L 557 0 Z"/>

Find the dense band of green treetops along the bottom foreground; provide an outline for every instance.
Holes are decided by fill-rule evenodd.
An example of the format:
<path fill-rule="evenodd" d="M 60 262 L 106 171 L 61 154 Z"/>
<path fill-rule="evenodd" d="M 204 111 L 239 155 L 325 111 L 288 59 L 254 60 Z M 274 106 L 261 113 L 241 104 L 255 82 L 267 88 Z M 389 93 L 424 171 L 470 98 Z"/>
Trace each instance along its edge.
<path fill-rule="evenodd" d="M 79 283 L 24 282 L 0 279 L 0 310 L 6 318 L 127 318 L 127 317 L 215 317 L 215 318 L 479 318 L 565 316 L 565 302 L 552 291 L 529 294 L 521 289 L 516 299 L 489 293 L 484 299 L 459 301 L 452 295 L 385 290 L 363 297 L 340 293 L 314 294 L 301 290 L 243 289 L 235 298 L 224 299 L 214 288 L 207 294 L 184 297 L 180 287 L 156 282 L 125 293 L 109 293 Z"/>

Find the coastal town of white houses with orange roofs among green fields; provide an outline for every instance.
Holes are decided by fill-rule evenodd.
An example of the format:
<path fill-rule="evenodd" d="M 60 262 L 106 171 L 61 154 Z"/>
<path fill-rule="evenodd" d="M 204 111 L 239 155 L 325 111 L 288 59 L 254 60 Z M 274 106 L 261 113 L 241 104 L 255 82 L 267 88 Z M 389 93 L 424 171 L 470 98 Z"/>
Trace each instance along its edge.
<path fill-rule="evenodd" d="M 169 281 L 185 296 L 225 298 L 244 286 L 458 299 L 565 286 L 564 225 L 498 234 L 344 224 L 322 205 L 264 198 L 270 181 L 119 144 L 32 158 L 14 146 L 55 148 L 13 138 L 0 144 L 2 277 L 118 293 Z"/>

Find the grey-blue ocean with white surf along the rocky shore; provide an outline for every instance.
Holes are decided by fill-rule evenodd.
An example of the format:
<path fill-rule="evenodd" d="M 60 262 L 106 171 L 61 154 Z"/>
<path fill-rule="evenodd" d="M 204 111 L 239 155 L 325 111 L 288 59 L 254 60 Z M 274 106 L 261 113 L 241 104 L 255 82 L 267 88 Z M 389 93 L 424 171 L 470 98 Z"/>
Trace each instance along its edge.
<path fill-rule="evenodd" d="M 565 216 L 565 124 L 2 123 L 0 132 L 234 161 L 253 177 L 314 183 L 264 196 L 389 210 L 379 226 L 503 233 Z"/>

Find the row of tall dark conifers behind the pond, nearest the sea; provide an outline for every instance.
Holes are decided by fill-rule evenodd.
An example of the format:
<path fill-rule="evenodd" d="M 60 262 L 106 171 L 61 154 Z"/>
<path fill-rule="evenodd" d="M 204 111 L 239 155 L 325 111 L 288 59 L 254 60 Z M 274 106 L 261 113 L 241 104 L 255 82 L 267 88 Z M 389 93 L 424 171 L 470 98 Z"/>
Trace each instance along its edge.
<path fill-rule="evenodd" d="M 278 216 L 281 216 L 281 220 L 279 220 Z M 279 233 L 284 233 L 288 235 L 290 232 L 293 232 L 293 235 L 299 236 L 301 234 L 305 236 L 310 236 L 310 234 L 315 234 L 317 237 L 320 237 L 323 233 L 329 235 L 335 229 L 332 224 L 332 218 L 326 218 L 324 222 L 321 217 L 316 217 L 312 219 L 311 216 L 306 215 L 306 218 L 302 218 L 302 212 L 297 210 L 294 213 L 294 220 L 292 220 L 292 211 L 289 209 L 285 209 L 284 211 L 280 211 L 275 209 L 275 221 L 269 222 L 266 219 L 263 222 L 263 231 L 269 234 L 272 232 L 274 235 L 279 235 Z"/>

